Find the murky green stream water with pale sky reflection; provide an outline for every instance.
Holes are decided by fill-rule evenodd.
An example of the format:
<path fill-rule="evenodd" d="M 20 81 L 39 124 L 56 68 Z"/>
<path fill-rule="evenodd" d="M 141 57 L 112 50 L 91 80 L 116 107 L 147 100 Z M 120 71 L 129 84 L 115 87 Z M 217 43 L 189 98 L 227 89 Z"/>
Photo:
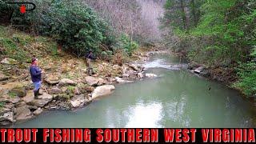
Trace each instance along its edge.
<path fill-rule="evenodd" d="M 14 127 L 255 127 L 252 103 L 186 69 L 169 69 L 180 62 L 154 55 L 146 72 L 159 78 L 116 85 L 114 94 L 83 109 L 46 112 Z"/>

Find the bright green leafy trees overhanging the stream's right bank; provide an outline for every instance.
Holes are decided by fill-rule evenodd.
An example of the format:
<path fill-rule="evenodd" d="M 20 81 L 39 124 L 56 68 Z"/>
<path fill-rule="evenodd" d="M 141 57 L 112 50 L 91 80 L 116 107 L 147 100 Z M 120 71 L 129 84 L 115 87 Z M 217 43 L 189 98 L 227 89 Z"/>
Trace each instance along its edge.
<path fill-rule="evenodd" d="M 166 39 L 177 40 L 173 50 L 185 50 L 191 61 L 210 66 L 232 67 L 240 62 L 234 87 L 246 95 L 255 94 L 256 64 L 250 61 L 256 58 L 255 0 L 167 0 L 165 10 L 162 25 L 171 30 Z M 197 20 L 194 12 L 198 22 L 193 21 Z M 184 21 L 184 16 L 192 21 Z"/>

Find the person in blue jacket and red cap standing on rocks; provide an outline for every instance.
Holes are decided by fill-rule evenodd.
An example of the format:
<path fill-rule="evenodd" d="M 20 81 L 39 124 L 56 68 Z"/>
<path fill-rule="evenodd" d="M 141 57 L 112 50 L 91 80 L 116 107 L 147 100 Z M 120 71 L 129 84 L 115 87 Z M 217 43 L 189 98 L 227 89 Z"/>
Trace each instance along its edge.
<path fill-rule="evenodd" d="M 34 98 L 38 98 L 39 90 L 42 85 L 42 70 L 38 67 L 38 58 L 33 57 L 30 66 L 30 75 L 34 84 Z"/>

